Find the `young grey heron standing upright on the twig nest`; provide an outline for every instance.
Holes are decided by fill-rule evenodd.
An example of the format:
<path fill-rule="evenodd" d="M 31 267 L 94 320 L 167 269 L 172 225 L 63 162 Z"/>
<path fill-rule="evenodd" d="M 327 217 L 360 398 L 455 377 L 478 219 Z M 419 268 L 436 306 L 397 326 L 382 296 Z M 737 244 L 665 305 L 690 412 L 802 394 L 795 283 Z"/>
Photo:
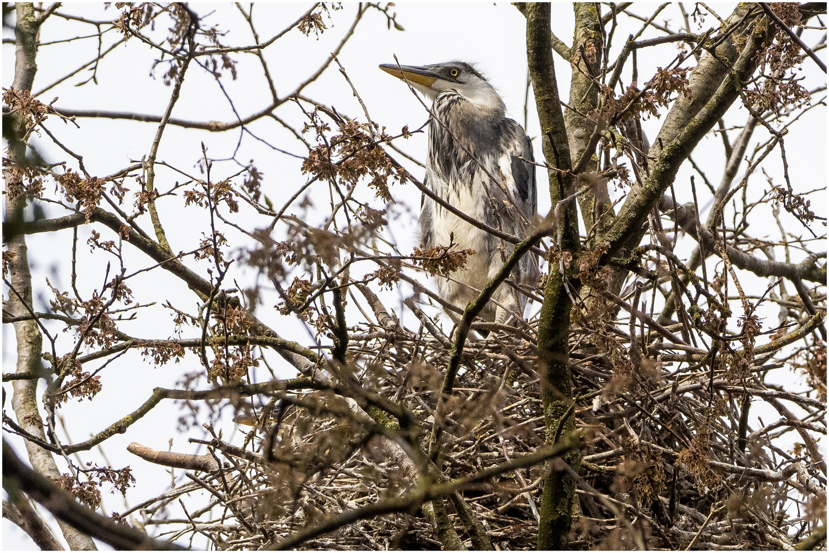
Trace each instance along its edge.
<path fill-rule="evenodd" d="M 501 96 L 472 65 L 449 61 L 434 65 L 384 64 L 380 68 L 432 100 L 429 156 L 424 184 L 449 205 L 487 226 L 523 238 L 537 211 L 536 167 L 524 129 L 507 118 Z M 530 160 L 530 161 L 525 161 Z M 424 196 L 420 240 L 426 247 L 475 250 L 465 270 L 437 279 L 441 298 L 458 308 L 478 296 L 511 254 L 512 245 L 463 221 Z M 511 274 L 534 289 L 536 255 L 527 254 Z M 502 284 L 481 313 L 487 321 L 506 323 L 523 317 L 526 296 Z"/>

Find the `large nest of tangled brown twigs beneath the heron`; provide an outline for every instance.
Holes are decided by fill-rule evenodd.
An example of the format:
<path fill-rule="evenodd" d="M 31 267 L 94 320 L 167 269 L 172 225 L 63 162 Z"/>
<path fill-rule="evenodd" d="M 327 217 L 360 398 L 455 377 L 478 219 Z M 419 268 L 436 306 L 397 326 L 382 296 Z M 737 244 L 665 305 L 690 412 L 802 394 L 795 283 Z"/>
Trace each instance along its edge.
<path fill-rule="evenodd" d="M 434 325 L 417 332 L 399 325 L 356 328 L 347 350 L 350 369 L 332 371 L 332 382 L 359 384 L 401 405 L 411 417 L 409 432 L 419 434 L 412 439 L 424 451 L 434 417 L 443 417 L 435 458 L 450 480 L 541 448 L 550 429 L 533 322 L 501 328 L 478 323 L 481 334 L 490 332 L 486 339 L 470 334 L 452 399 L 441 406 L 441 368 L 450 342 L 427 332 L 429 326 L 434 332 Z M 645 327 L 633 329 L 632 348 L 630 335 L 618 326 L 587 318 L 578 326 L 571 332 L 569 361 L 574 400 L 567 400 L 583 436 L 580 460 L 570 469 L 578 497 L 572 547 L 790 549 L 793 535 L 807 535 L 808 521 L 825 504 L 826 480 L 807 457 L 774 442 L 785 431 L 816 428 L 823 404 L 764 385 L 766 373 L 783 366 L 772 358 L 774 347 L 757 348 L 738 377 L 734 363 L 723 361 L 712 374 L 710 352 L 676 347 Z M 439 549 L 440 532 L 451 526 L 464 546 L 475 546 L 457 498 L 448 496 L 448 519 L 435 512 L 435 501 L 346 520 L 355 510 L 384 505 L 424 484 L 356 423 L 342 395 L 307 381 L 288 381 L 285 390 L 269 394 L 269 404 L 254 410 L 264 424 L 250 430 L 243 446 L 216 436 L 205 441 L 221 468 L 216 464 L 150 503 L 145 526 L 162 523 L 169 518 L 167 504 L 203 488 L 210 502 L 185 502 L 187 520 L 177 521 L 175 531 L 161 526 L 164 536 L 206 536 L 217 548 L 259 549 L 286 545 L 297 532 L 333 521 L 332 531 L 288 545 Z M 748 419 L 752 400 L 770 403 L 782 420 L 791 413 L 781 400 L 810 415 L 752 429 L 740 420 Z M 250 412 L 245 398 L 237 406 Z M 385 421 L 398 428 L 398 421 Z M 536 463 L 504 471 L 460 492 L 493 548 L 535 547 L 545 470 L 563 477 L 562 464 L 554 459 L 547 468 Z"/>

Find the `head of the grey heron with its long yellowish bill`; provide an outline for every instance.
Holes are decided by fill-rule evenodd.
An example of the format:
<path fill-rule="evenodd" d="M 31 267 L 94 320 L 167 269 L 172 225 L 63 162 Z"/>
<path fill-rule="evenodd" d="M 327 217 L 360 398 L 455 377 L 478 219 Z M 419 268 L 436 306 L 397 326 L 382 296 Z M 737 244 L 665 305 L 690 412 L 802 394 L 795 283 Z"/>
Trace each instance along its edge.
<path fill-rule="evenodd" d="M 501 96 L 492 85 L 464 61 L 447 61 L 421 67 L 383 64 L 380 68 L 398 79 L 407 80 L 429 99 L 434 99 L 445 90 L 454 90 L 482 108 L 505 109 Z"/>

